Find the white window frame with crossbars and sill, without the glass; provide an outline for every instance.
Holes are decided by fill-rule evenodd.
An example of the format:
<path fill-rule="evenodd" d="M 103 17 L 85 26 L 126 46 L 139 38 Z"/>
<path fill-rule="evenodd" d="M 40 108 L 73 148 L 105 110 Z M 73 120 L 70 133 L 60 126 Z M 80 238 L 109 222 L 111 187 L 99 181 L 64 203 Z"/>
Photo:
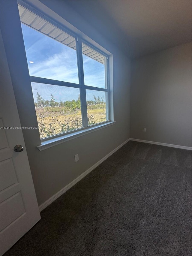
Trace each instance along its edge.
<path fill-rule="evenodd" d="M 60 143 L 63 143 L 64 141 L 68 141 L 71 139 L 74 139 L 76 137 L 80 137 L 82 135 L 88 134 L 90 132 L 102 129 L 104 127 L 113 125 L 115 122 L 113 120 L 113 100 L 111 101 L 111 95 L 113 94 L 113 87 L 110 85 L 110 68 L 109 68 L 109 59 L 112 59 L 112 54 L 109 54 L 109 52 L 106 50 L 106 52 L 101 51 L 97 47 L 95 47 L 91 42 L 93 43 L 93 40 L 85 40 L 81 36 L 77 35 L 75 32 L 72 32 L 70 29 L 68 29 L 66 26 L 61 25 L 60 23 L 55 22 L 55 20 L 52 20 L 49 18 L 49 16 L 45 16 L 44 14 L 41 14 L 38 10 L 36 10 L 34 7 L 30 6 L 29 4 L 26 4 L 26 2 L 18 1 L 19 5 L 23 6 L 24 8 L 27 8 L 32 13 L 38 15 L 42 19 L 48 21 L 53 26 L 57 27 L 58 29 L 61 29 L 63 32 L 66 32 L 67 34 L 71 35 L 73 38 L 75 38 L 76 41 L 76 56 L 77 56 L 77 67 L 78 67 L 78 77 L 79 77 L 79 84 L 70 83 L 70 82 L 64 82 L 60 80 L 52 80 L 47 78 L 41 78 L 41 77 L 34 77 L 30 76 L 31 82 L 34 83 L 43 83 L 43 84 L 50 84 L 55 86 L 66 86 L 71 88 L 78 88 L 79 94 L 80 94 L 80 101 L 81 101 L 81 113 L 82 113 L 82 128 L 78 128 L 72 131 L 63 132 L 60 134 L 51 135 L 49 137 L 40 138 L 41 139 L 41 145 L 37 146 L 37 148 L 41 151 L 47 148 L 50 148 L 52 146 L 58 145 Z M 39 32 L 41 33 L 41 32 Z M 86 37 L 87 38 L 87 37 Z M 54 40 L 54 38 L 52 38 Z M 91 49 L 95 50 L 96 52 L 100 53 L 102 56 L 105 57 L 105 85 L 106 88 L 99 88 L 94 86 L 86 86 L 84 83 L 84 71 L 83 71 L 83 58 L 82 58 L 82 43 L 86 46 L 90 47 Z M 95 43 L 95 42 L 94 42 Z M 102 47 L 103 48 L 103 47 Z M 111 71 L 112 73 L 112 71 Z M 100 92 L 107 92 L 108 97 L 106 97 L 106 119 L 107 121 L 100 122 L 93 125 L 88 125 L 88 116 L 87 116 L 87 101 L 86 101 L 86 89 L 88 90 L 94 90 L 94 91 L 100 91 Z M 39 134 L 40 136 L 40 134 Z"/>

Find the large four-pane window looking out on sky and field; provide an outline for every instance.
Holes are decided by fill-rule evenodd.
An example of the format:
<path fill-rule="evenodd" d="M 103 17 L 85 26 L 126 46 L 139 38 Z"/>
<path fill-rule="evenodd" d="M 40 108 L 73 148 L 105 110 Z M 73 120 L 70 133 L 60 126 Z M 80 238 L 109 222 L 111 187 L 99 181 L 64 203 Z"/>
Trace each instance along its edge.
<path fill-rule="evenodd" d="M 19 5 L 41 139 L 109 122 L 108 56 Z"/>

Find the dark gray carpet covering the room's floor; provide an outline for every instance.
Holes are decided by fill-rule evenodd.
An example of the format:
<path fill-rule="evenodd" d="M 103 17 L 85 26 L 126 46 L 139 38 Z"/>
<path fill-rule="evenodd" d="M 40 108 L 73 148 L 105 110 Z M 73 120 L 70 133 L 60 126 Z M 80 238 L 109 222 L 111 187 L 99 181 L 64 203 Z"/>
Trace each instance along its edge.
<path fill-rule="evenodd" d="M 191 151 L 129 141 L 4 256 L 191 255 Z"/>

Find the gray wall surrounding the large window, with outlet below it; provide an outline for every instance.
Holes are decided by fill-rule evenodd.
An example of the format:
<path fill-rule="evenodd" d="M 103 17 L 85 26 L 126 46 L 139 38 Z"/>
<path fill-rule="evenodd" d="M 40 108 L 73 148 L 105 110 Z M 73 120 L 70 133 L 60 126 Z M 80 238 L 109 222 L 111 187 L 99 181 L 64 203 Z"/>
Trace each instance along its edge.
<path fill-rule="evenodd" d="M 37 126 L 17 2 L 0 2 L 1 31 L 21 125 Z M 91 28 L 79 14 L 68 8 L 64 1 L 47 1 L 46 4 L 113 54 L 113 101 L 116 123 L 41 152 L 36 148 L 40 144 L 38 131 L 22 130 L 39 205 L 130 137 L 129 59 L 96 29 Z M 8 15 L 10 13 L 11 19 Z M 99 30 L 102 30 L 102 27 Z M 77 153 L 79 161 L 75 163 L 74 155 Z"/>

